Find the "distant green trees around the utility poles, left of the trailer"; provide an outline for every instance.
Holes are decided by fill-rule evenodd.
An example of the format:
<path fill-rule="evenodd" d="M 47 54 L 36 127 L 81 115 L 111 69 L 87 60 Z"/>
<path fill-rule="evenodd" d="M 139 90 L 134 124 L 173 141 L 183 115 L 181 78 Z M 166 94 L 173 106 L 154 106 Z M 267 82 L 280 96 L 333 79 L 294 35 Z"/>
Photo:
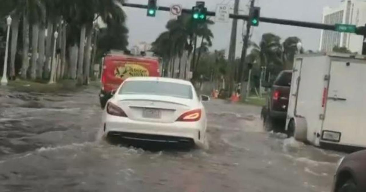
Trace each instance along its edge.
<path fill-rule="evenodd" d="M 280 71 L 292 69 L 295 54 L 298 51 L 304 52 L 303 48 L 297 48 L 300 41 L 298 37 L 288 37 L 281 42 L 281 38 L 272 33 L 263 34 L 258 44 L 250 41 L 244 80 L 248 79 L 249 63 L 253 65 L 251 78 L 256 87 L 259 87 L 262 67 L 266 67 L 266 75 L 262 76 L 262 80 L 273 80 Z M 234 63 L 229 63 L 225 58 L 225 50 L 206 50 L 201 55 L 197 75 L 202 75 L 203 80 L 225 79 L 226 82 L 234 82 L 237 78 L 240 58 L 235 59 Z"/>

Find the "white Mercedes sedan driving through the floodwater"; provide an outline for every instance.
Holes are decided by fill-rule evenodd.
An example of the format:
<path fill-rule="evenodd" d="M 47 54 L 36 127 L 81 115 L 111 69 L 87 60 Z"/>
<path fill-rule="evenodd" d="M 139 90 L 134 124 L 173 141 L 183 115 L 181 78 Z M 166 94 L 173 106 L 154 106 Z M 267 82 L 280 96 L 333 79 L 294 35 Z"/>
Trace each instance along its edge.
<path fill-rule="evenodd" d="M 171 78 L 126 79 L 108 100 L 103 135 L 123 139 L 202 146 L 207 119 L 192 83 Z"/>

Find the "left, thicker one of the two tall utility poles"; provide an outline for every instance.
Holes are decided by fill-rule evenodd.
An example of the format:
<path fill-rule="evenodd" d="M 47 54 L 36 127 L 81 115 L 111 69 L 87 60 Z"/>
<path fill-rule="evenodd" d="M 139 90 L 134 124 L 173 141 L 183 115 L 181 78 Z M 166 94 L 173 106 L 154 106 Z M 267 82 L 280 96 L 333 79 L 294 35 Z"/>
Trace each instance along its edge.
<path fill-rule="evenodd" d="M 239 0 L 235 0 L 234 3 L 234 15 L 238 15 L 239 13 Z M 235 61 L 235 51 L 236 51 L 236 32 L 238 29 L 238 20 L 237 19 L 232 19 L 232 26 L 231 26 L 231 36 L 230 36 L 230 48 L 229 48 L 229 55 L 228 55 L 228 59 L 229 59 L 229 64 L 231 65 L 231 79 L 229 81 L 230 86 L 229 89 L 231 89 L 229 91 L 229 93 L 232 92 L 232 88 L 234 85 L 234 73 L 235 73 L 235 65 L 234 65 L 234 61 Z"/>

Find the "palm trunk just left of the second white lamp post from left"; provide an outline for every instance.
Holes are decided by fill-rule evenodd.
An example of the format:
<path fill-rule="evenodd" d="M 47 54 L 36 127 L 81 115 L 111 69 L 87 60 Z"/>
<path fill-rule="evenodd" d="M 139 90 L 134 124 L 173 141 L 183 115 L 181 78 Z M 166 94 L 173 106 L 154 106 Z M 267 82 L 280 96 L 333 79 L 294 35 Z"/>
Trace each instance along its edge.
<path fill-rule="evenodd" d="M 50 64 L 52 60 L 52 37 L 53 37 L 53 23 L 51 20 L 48 20 L 47 26 L 47 38 L 46 38 L 46 62 L 43 66 L 43 78 L 49 78 L 50 72 Z"/>

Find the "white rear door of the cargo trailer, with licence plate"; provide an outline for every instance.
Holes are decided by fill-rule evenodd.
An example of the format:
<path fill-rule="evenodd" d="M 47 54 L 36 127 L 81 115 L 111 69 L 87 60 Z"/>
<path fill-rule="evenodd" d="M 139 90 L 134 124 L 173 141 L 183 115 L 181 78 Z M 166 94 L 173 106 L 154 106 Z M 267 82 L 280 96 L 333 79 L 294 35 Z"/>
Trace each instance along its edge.
<path fill-rule="evenodd" d="M 332 61 L 321 142 L 366 146 L 366 64 Z"/>

